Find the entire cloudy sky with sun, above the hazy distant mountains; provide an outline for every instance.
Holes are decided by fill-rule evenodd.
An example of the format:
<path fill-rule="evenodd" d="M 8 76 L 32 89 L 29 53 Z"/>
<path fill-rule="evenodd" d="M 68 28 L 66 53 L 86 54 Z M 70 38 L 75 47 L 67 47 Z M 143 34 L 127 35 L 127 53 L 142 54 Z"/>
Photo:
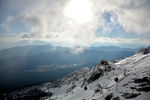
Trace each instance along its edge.
<path fill-rule="evenodd" d="M 147 46 L 149 5 L 150 0 L 0 0 L 0 47 L 22 40 L 71 48 Z"/>

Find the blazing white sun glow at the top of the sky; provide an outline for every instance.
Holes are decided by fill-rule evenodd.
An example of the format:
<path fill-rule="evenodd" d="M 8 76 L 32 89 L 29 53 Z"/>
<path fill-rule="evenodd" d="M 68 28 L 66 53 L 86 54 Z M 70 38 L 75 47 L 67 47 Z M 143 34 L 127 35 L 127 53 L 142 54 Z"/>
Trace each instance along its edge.
<path fill-rule="evenodd" d="M 65 16 L 78 23 L 89 22 L 92 17 L 89 0 L 71 0 L 65 8 Z"/>

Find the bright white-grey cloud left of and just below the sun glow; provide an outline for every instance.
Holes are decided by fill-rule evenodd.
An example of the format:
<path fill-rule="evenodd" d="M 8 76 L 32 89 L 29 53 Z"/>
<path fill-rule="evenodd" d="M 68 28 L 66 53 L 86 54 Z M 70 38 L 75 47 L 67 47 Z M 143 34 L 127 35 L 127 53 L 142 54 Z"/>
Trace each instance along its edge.
<path fill-rule="evenodd" d="M 61 3 L 65 1 L 53 2 L 49 7 L 44 4 L 32 14 L 19 16 L 30 26 L 29 33 L 23 34 L 23 38 L 49 38 L 50 41 L 67 42 L 70 46 L 89 45 L 95 38 L 95 23 L 80 24 L 65 17 Z"/>

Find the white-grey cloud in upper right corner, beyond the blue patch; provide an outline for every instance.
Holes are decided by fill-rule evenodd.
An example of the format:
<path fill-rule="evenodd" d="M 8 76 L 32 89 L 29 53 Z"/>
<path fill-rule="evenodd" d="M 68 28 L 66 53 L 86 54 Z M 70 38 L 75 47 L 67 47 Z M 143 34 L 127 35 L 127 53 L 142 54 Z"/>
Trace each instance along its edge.
<path fill-rule="evenodd" d="M 150 32 L 150 1 L 149 0 L 94 0 L 95 12 L 113 12 L 118 23 L 127 32 L 149 34 Z"/>

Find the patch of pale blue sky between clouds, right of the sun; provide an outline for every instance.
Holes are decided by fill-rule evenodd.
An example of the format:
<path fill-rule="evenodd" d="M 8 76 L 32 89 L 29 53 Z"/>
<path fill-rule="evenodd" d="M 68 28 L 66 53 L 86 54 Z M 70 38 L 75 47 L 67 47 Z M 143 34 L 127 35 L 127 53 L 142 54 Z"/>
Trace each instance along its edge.
<path fill-rule="evenodd" d="M 99 27 L 95 34 L 97 37 L 110 37 L 110 38 L 146 38 L 143 34 L 137 34 L 136 32 L 127 32 L 118 22 L 117 16 L 113 12 L 105 12 L 103 14 L 105 19 L 105 27 Z M 113 22 L 112 19 L 113 18 Z M 104 29 L 108 29 L 104 31 Z"/>

